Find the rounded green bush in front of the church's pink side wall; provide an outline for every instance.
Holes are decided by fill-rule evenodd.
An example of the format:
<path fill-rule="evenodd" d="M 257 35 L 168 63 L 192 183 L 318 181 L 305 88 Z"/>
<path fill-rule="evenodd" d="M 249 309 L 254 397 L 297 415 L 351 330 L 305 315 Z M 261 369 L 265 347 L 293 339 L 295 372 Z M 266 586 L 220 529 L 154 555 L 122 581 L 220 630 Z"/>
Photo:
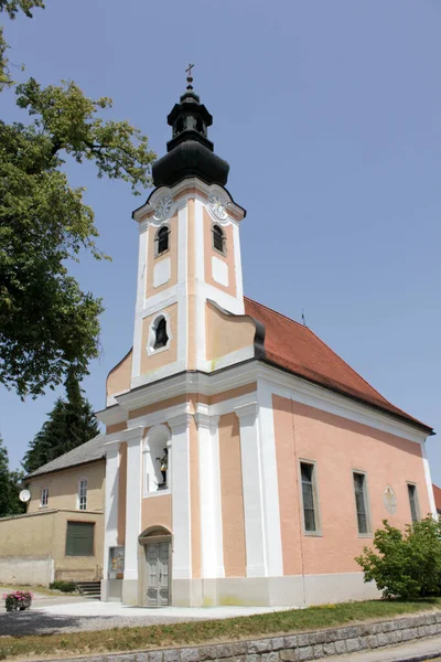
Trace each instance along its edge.
<path fill-rule="evenodd" d="M 441 523 L 428 515 L 408 524 L 405 532 L 390 526 L 374 535 L 374 547 L 364 547 L 355 560 L 386 598 L 418 598 L 441 594 Z"/>

